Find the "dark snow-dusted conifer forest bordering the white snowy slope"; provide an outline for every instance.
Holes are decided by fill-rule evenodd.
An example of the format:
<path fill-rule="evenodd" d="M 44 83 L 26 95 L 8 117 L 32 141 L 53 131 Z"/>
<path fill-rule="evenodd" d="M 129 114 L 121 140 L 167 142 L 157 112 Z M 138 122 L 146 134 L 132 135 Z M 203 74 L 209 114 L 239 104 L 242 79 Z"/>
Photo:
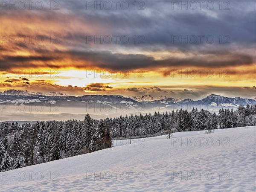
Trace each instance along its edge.
<path fill-rule="evenodd" d="M 218 113 L 180 109 L 169 113 L 119 116 L 83 121 L 0 124 L 0 172 L 110 148 L 112 140 L 152 137 L 166 130 L 199 131 L 256 125 L 256 105 Z"/>

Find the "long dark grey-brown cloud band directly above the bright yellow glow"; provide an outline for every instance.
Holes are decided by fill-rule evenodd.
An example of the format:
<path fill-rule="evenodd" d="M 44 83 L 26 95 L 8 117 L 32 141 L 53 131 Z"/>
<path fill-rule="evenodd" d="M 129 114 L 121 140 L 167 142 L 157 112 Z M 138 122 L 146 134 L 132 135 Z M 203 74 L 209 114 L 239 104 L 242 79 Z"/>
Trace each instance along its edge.
<path fill-rule="evenodd" d="M 193 52 L 192 52 L 193 53 Z M 165 59 L 156 60 L 153 56 L 143 54 L 123 54 L 112 53 L 110 51 L 55 51 L 46 56 L 36 57 L 23 57 L 23 56 L 5 56 L 1 61 L 2 69 L 9 69 L 20 67 L 52 67 L 61 68 L 67 67 L 61 64 L 65 59 L 73 59 L 72 67 L 86 69 L 88 67 L 98 67 L 103 69 L 119 69 L 119 70 L 132 70 L 132 69 L 152 69 L 157 67 L 203 67 L 203 68 L 216 68 L 216 67 L 235 67 L 239 65 L 253 64 L 253 58 L 250 55 L 241 54 L 237 52 L 194 52 L 187 57 L 169 57 Z M 38 64 L 42 61 L 42 66 Z M 58 64 L 47 63 L 44 61 L 59 61 Z M 71 67 L 71 66 L 68 66 Z M 171 71 L 166 70 L 164 76 L 170 75 Z"/>

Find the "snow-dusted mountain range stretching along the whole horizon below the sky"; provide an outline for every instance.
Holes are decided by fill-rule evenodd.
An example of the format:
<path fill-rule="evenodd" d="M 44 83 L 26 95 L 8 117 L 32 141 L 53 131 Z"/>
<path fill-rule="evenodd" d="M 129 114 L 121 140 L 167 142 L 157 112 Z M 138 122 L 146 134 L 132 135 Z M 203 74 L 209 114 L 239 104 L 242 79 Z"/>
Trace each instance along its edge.
<path fill-rule="evenodd" d="M 175 99 L 167 97 L 137 96 L 124 97 L 119 95 L 85 95 L 67 96 L 63 93 L 49 94 L 28 92 L 23 90 L 6 90 L 0 92 L 0 105 L 55 105 L 59 107 L 87 108 L 90 110 L 103 108 L 105 112 L 119 111 L 126 113 L 147 111 L 172 111 L 180 108 L 189 111 L 192 108 L 202 108 L 208 111 L 218 111 L 220 108 L 238 108 L 239 105 L 255 105 L 255 99 L 230 98 L 219 95 L 209 95 L 204 99 Z M 88 112 L 88 111 L 87 111 Z M 95 111 L 96 112 L 96 111 Z"/>

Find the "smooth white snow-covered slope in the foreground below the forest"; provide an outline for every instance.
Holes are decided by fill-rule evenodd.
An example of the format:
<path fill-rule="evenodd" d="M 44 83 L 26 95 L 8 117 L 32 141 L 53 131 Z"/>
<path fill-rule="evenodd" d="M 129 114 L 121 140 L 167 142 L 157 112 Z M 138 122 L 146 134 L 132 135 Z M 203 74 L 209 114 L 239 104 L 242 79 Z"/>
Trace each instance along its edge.
<path fill-rule="evenodd" d="M 0 191 L 256 191 L 255 126 L 124 145 L 2 172 Z"/>

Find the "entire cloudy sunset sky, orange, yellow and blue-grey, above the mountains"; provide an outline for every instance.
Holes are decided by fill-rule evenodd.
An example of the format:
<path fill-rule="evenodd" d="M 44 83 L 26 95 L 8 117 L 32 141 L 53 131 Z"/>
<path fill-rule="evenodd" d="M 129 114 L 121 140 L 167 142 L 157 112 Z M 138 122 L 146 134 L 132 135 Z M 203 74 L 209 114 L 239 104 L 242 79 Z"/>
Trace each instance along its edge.
<path fill-rule="evenodd" d="M 0 2 L 1 91 L 256 96 L 255 0 Z"/>

